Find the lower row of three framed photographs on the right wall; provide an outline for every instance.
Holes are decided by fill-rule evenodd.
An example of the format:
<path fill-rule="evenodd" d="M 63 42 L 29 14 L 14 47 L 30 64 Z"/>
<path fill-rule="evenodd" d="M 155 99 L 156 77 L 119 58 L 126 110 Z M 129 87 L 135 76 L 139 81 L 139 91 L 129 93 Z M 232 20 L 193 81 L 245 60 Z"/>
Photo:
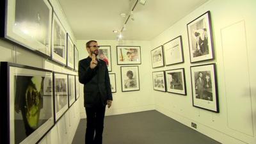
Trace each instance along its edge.
<path fill-rule="evenodd" d="M 219 113 L 215 63 L 190 67 L 193 106 Z M 184 68 L 153 72 L 154 90 L 187 95 Z"/>

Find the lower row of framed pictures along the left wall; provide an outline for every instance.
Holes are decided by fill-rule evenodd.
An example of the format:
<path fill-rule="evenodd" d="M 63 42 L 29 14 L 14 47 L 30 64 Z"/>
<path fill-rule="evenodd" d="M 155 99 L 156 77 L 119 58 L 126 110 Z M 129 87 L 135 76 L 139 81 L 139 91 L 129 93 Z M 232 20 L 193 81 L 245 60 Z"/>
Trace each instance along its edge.
<path fill-rule="evenodd" d="M 3 143 L 36 143 L 79 98 L 78 76 L 1 62 Z"/>

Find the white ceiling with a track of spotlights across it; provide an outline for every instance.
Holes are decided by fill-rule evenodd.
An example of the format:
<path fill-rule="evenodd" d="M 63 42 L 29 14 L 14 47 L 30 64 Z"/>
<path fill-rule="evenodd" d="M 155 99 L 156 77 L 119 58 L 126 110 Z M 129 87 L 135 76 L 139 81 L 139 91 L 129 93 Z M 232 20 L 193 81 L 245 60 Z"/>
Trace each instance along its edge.
<path fill-rule="evenodd" d="M 58 0 L 77 40 L 116 40 L 136 0 Z M 140 1 L 140 0 L 138 0 Z M 147 0 L 137 3 L 124 40 L 152 40 L 208 0 Z"/>

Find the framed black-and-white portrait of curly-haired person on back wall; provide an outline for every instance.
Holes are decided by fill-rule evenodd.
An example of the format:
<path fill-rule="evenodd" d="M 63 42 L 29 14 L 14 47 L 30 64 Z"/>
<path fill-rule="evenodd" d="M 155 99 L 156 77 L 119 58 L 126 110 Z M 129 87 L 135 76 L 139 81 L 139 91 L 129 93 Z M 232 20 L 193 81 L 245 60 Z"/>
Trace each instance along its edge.
<path fill-rule="evenodd" d="M 140 76 L 138 66 L 121 68 L 122 92 L 140 90 Z"/>

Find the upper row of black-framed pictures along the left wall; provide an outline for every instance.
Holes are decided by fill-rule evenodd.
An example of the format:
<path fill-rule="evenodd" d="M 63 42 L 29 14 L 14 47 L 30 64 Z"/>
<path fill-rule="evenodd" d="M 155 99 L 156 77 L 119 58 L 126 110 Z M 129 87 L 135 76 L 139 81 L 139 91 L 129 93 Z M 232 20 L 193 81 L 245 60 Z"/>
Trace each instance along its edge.
<path fill-rule="evenodd" d="M 49 1 L 6 0 L 1 4 L 1 13 L 5 14 L 1 15 L 1 37 L 60 65 L 78 70 L 77 47 Z"/>

